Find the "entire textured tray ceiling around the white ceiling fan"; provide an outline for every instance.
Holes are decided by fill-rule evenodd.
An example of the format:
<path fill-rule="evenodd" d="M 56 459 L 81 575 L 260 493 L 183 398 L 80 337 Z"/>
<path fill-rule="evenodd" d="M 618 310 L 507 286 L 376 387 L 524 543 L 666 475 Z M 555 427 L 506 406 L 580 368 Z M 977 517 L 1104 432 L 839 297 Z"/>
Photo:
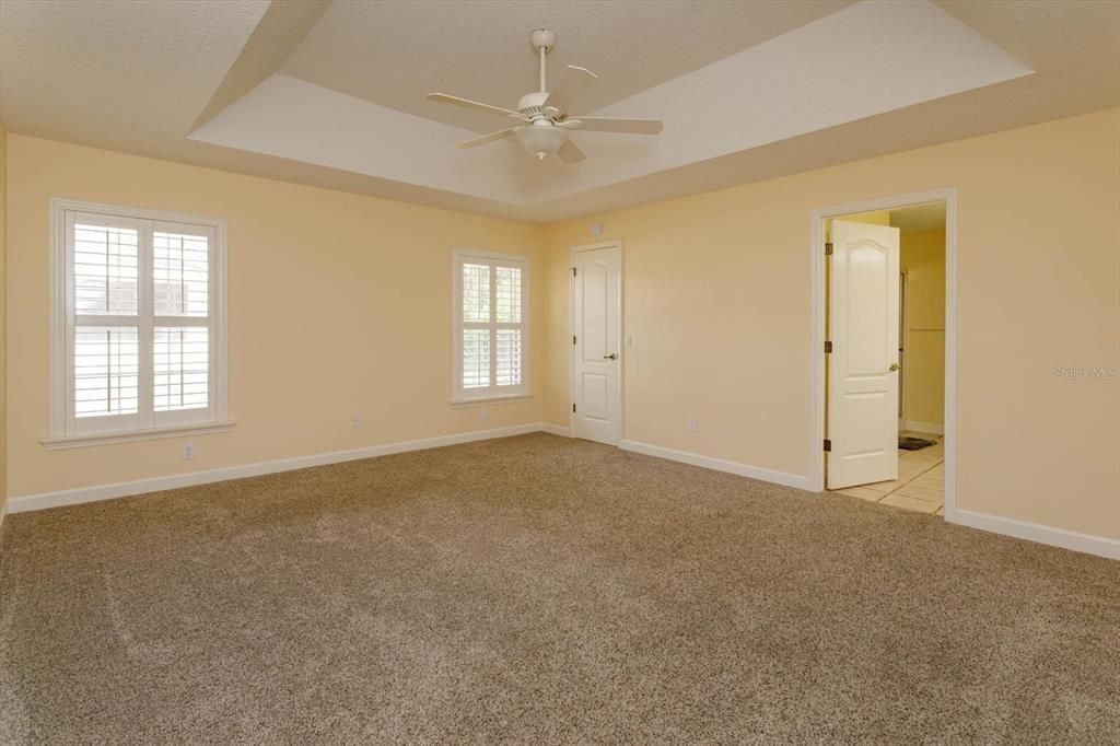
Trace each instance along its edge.
<path fill-rule="evenodd" d="M 587 161 L 454 143 L 550 68 L 663 118 Z M 0 0 L 10 131 L 547 222 L 1120 103 L 1120 2 Z M 496 120 L 496 121 L 495 121 Z"/>

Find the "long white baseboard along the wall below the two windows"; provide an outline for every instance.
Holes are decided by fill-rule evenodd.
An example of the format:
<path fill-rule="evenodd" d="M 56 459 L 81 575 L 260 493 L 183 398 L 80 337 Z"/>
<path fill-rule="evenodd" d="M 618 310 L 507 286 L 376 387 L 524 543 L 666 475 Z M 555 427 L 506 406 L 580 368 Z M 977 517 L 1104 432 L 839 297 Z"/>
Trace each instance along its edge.
<path fill-rule="evenodd" d="M 278 472 L 290 472 L 302 469 L 309 466 L 324 466 L 326 464 L 340 464 L 362 458 L 374 458 L 377 456 L 389 456 L 390 454 L 403 454 L 410 450 L 424 450 L 427 448 L 440 448 L 442 446 L 454 446 L 461 442 L 473 442 L 475 440 L 491 440 L 493 438 L 507 438 L 510 436 L 525 435 L 528 432 L 539 432 L 544 429 L 540 422 L 528 425 L 514 425 L 505 428 L 492 428 L 489 430 L 475 430 L 473 432 L 459 432 L 436 438 L 421 438 L 420 440 L 405 440 L 402 442 L 391 442 L 382 446 L 370 446 L 366 448 L 355 448 L 353 450 L 336 450 L 327 454 L 316 454 L 314 456 L 297 456 L 295 458 L 283 458 L 274 461 L 261 461 L 258 464 L 245 464 L 242 466 L 227 466 L 205 472 L 187 472 L 185 474 L 174 474 L 170 476 L 149 477 L 147 479 L 136 479 L 132 482 L 116 482 L 113 484 L 102 484 L 92 487 L 77 487 L 74 489 L 59 489 L 58 492 L 44 492 L 35 495 L 21 495 L 8 498 L 9 513 L 26 513 L 28 511 L 41 511 L 48 507 L 62 507 L 64 505 L 80 505 L 100 500 L 113 500 L 115 497 L 129 497 L 132 495 L 143 495 L 149 492 L 160 492 L 162 489 L 176 489 L 178 487 L 193 487 L 199 484 L 212 482 L 225 482 L 227 479 L 241 479 L 244 477 L 260 476 L 262 474 L 276 474 Z"/>

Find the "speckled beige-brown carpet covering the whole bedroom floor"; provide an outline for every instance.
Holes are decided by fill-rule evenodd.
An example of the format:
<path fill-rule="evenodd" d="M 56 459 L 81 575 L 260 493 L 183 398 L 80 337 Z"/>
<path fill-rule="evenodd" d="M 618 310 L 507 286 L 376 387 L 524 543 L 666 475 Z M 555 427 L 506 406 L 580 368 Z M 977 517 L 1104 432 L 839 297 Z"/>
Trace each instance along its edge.
<path fill-rule="evenodd" d="M 6 523 L 6 745 L 1120 737 L 1117 563 L 553 436 Z"/>

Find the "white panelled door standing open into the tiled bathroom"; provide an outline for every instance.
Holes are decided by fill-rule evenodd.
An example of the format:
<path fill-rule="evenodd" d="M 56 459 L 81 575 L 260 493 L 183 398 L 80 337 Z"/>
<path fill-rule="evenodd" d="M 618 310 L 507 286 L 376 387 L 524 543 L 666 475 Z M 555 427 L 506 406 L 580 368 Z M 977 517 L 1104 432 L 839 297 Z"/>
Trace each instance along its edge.
<path fill-rule="evenodd" d="M 898 229 L 832 221 L 828 487 L 898 477 Z"/>

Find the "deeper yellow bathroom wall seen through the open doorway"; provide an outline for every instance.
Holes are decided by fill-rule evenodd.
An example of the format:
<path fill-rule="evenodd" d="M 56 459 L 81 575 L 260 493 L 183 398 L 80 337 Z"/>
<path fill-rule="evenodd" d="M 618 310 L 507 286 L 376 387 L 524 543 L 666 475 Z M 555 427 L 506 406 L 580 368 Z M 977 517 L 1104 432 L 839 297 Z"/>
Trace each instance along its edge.
<path fill-rule="evenodd" d="M 944 425 L 945 411 L 945 231 L 900 234 L 906 273 L 905 385 L 908 422 Z"/>

